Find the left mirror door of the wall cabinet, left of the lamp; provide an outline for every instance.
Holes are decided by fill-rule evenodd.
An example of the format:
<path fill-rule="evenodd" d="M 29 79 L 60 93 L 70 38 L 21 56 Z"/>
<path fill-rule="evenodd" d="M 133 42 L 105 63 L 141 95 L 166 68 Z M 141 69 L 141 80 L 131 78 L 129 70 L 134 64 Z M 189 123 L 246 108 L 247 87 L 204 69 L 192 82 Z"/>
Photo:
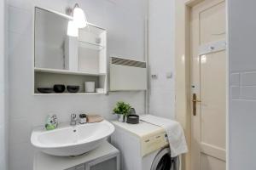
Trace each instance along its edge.
<path fill-rule="evenodd" d="M 69 19 L 47 11 L 35 8 L 35 67 L 57 70 L 68 70 L 66 59 L 71 44 L 67 36 Z M 74 40 L 73 40 L 74 41 Z"/>

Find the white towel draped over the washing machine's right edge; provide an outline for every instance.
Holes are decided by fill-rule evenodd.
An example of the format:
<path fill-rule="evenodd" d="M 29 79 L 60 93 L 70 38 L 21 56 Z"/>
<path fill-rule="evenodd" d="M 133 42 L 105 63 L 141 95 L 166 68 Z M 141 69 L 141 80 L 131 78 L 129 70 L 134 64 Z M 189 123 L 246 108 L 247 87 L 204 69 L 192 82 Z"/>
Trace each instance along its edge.
<path fill-rule="evenodd" d="M 183 132 L 183 127 L 175 121 L 152 115 L 140 116 L 140 120 L 166 129 L 172 157 L 188 152 L 188 146 Z"/>

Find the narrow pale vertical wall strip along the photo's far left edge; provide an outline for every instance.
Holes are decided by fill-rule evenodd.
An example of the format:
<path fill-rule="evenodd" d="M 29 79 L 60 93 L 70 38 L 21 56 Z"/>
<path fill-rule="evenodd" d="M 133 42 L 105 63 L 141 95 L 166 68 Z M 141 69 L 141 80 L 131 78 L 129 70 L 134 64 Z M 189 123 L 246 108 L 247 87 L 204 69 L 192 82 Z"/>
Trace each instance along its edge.
<path fill-rule="evenodd" d="M 6 14 L 5 1 L 0 2 L 0 169 L 7 170 L 7 107 L 6 107 Z"/>

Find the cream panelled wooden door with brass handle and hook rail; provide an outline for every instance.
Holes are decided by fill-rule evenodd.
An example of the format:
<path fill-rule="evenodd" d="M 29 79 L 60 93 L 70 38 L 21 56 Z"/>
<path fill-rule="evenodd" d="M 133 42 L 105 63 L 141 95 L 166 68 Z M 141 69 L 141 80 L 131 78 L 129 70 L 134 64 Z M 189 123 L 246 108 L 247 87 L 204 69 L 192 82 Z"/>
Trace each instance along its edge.
<path fill-rule="evenodd" d="M 225 170 L 225 2 L 191 8 L 191 169 Z"/>

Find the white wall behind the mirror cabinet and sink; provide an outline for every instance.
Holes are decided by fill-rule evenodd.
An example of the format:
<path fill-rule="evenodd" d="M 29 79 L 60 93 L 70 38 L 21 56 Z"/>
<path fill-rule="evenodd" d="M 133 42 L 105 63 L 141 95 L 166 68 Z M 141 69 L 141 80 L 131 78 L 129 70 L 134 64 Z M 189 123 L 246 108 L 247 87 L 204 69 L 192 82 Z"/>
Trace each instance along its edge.
<path fill-rule="evenodd" d="M 144 93 L 111 93 L 108 96 L 32 96 L 32 3 L 64 12 L 67 0 L 9 0 L 9 170 L 32 169 L 32 127 L 43 125 L 45 116 L 56 113 L 60 122 L 73 112 L 88 111 L 113 118 L 118 100 L 144 111 Z M 78 1 L 79 2 L 79 1 Z M 91 23 L 107 28 L 108 56 L 143 59 L 143 0 L 83 0 Z"/>

